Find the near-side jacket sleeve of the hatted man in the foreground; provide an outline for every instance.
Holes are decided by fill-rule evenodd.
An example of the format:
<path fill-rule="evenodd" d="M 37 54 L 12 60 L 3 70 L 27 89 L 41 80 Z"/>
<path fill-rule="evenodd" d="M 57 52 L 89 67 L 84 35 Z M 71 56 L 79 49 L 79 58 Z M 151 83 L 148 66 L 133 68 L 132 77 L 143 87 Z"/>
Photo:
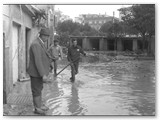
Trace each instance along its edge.
<path fill-rule="evenodd" d="M 35 60 L 35 66 L 38 70 L 38 73 L 41 77 L 45 75 L 45 70 L 42 62 L 42 55 L 41 55 L 41 47 L 39 45 L 33 45 L 32 51 Z"/>

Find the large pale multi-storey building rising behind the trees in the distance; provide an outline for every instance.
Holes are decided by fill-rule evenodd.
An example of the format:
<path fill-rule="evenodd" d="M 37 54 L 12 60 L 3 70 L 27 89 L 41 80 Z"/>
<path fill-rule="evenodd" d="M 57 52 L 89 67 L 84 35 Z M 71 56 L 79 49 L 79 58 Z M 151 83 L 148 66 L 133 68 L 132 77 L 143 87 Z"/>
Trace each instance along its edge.
<path fill-rule="evenodd" d="M 108 16 L 106 14 L 82 14 L 75 18 L 76 22 L 86 24 L 88 23 L 92 28 L 99 30 L 101 26 L 109 21 L 119 21 L 118 18 Z"/>

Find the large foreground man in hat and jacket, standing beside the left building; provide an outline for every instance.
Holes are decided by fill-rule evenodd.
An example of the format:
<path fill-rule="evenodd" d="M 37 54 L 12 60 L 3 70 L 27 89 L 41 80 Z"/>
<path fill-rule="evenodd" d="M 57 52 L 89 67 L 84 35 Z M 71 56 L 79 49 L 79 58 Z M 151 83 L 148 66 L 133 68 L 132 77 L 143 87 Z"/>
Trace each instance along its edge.
<path fill-rule="evenodd" d="M 48 110 L 46 106 L 42 105 L 42 89 L 43 83 L 47 82 L 47 76 L 50 71 L 51 57 L 47 53 L 44 45 L 49 35 L 49 29 L 42 28 L 39 37 L 32 42 L 29 50 L 30 62 L 27 69 L 31 78 L 31 90 L 35 107 L 34 112 L 41 115 L 45 115 L 45 111 Z"/>

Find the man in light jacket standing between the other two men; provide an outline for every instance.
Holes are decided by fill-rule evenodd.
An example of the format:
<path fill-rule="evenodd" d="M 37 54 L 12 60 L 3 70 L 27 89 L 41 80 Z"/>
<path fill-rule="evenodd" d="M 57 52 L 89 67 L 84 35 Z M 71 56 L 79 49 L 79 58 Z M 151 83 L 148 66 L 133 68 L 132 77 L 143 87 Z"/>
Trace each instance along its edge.
<path fill-rule="evenodd" d="M 54 76 L 56 77 L 58 67 L 57 62 L 59 59 L 63 59 L 63 52 L 61 46 L 59 45 L 58 38 L 54 40 L 54 44 L 49 47 L 48 52 L 52 57 L 56 59 L 52 62 L 52 68 L 54 68 Z"/>

